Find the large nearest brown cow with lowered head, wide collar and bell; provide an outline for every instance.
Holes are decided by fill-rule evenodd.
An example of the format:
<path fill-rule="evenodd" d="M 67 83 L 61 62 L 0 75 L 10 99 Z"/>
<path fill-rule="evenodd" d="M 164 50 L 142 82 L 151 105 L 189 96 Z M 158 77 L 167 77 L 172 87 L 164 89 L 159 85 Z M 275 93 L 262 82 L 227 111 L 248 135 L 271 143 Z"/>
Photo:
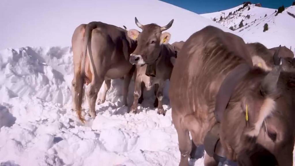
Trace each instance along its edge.
<path fill-rule="evenodd" d="M 191 35 L 179 56 L 169 97 L 180 166 L 189 164 L 189 132 L 201 145 L 210 130 L 220 140 L 212 142 L 206 166 L 223 154 L 239 165 L 292 165 L 294 74 L 281 72 L 280 59 L 270 72 L 254 67 L 242 38 L 212 26 Z"/>

